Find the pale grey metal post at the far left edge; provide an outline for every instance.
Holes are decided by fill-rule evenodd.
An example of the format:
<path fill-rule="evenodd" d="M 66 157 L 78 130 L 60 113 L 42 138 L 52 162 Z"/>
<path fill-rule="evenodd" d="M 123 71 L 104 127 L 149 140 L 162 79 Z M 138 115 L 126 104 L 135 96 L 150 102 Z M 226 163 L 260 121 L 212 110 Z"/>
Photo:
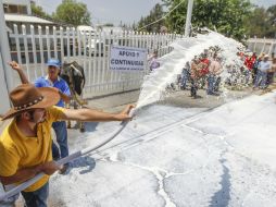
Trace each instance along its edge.
<path fill-rule="evenodd" d="M 11 61 L 11 51 L 4 20 L 3 2 L 0 0 L 0 113 L 10 109 L 9 92 L 13 88 L 12 70 L 8 62 Z"/>

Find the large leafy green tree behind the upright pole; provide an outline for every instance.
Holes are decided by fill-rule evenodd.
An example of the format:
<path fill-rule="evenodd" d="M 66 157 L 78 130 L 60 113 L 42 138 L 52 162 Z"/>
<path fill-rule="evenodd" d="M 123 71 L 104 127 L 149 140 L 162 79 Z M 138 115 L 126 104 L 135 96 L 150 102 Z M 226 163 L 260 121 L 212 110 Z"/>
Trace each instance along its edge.
<path fill-rule="evenodd" d="M 171 32 L 184 33 L 188 1 L 163 0 L 168 11 L 178 5 L 166 19 Z M 242 39 L 244 20 L 252 12 L 249 0 L 196 0 L 192 10 L 192 26 L 216 28 L 218 33 Z"/>

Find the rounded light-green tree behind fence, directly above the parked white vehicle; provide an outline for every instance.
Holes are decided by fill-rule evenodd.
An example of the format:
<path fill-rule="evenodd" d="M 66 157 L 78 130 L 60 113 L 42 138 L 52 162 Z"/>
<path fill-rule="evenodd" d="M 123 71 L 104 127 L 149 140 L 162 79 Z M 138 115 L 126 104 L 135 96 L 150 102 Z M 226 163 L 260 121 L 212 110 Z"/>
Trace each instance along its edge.
<path fill-rule="evenodd" d="M 74 26 L 91 24 L 87 5 L 75 0 L 63 0 L 57 8 L 53 19 Z"/>

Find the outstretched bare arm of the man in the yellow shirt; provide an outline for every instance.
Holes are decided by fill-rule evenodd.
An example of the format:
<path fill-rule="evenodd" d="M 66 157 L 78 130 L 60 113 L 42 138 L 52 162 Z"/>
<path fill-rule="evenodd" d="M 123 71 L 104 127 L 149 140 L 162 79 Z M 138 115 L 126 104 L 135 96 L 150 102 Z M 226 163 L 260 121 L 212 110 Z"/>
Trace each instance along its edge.
<path fill-rule="evenodd" d="M 61 114 L 61 120 L 76 120 L 76 121 L 126 121 L 131 119 L 128 114 L 134 108 L 133 105 L 128 105 L 120 113 L 106 113 L 93 109 L 64 109 L 64 113 Z"/>

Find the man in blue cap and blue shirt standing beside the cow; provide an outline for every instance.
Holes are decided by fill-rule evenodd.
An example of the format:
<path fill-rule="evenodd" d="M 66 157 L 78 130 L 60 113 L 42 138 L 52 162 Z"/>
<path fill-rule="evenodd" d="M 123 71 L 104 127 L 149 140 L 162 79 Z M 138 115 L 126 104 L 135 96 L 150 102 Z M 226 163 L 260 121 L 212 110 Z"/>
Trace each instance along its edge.
<path fill-rule="evenodd" d="M 10 65 L 17 71 L 20 74 L 21 81 L 23 84 L 29 83 L 23 70 L 16 62 L 11 62 Z M 71 99 L 71 92 L 67 83 L 59 76 L 61 63 L 58 59 L 50 59 L 47 62 L 48 74 L 47 76 L 38 77 L 35 81 L 36 87 L 55 87 L 59 89 L 61 99 L 57 104 L 58 107 L 65 107 L 65 102 L 68 104 Z M 59 147 L 52 143 L 52 156 L 54 160 L 64 158 L 68 156 L 68 144 L 67 144 L 67 129 L 65 121 L 53 122 L 52 127 L 55 132 L 57 142 Z M 60 149 L 59 149 L 60 148 Z M 60 173 L 63 174 L 66 172 L 68 165 L 64 165 L 60 170 Z"/>

